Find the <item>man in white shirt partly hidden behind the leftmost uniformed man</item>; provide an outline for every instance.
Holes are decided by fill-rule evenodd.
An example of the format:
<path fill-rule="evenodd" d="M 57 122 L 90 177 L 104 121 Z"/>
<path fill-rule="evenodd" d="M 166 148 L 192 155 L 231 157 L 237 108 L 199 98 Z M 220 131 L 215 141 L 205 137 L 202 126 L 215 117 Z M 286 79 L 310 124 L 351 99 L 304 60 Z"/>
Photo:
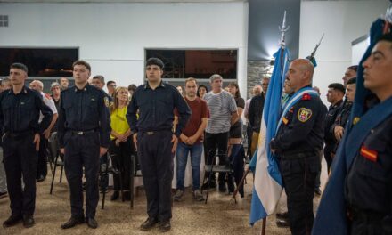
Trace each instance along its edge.
<path fill-rule="evenodd" d="M 36 90 L 38 93 L 41 93 L 42 99 L 46 106 L 48 106 L 53 112 L 53 118 L 51 124 L 47 127 L 46 130 L 41 134 L 41 142 L 39 142 L 39 151 L 38 151 L 38 162 L 37 162 L 37 182 L 45 181 L 47 174 L 47 156 L 46 156 L 46 148 L 47 148 L 47 140 L 50 137 L 53 126 L 56 124 L 56 120 L 58 117 L 56 105 L 50 94 L 45 94 L 44 84 L 39 80 L 34 80 L 30 83 L 29 87 L 33 90 Z M 38 123 L 41 123 L 42 118 L 44 116 L 42 113 L 39 114 Z"/>

